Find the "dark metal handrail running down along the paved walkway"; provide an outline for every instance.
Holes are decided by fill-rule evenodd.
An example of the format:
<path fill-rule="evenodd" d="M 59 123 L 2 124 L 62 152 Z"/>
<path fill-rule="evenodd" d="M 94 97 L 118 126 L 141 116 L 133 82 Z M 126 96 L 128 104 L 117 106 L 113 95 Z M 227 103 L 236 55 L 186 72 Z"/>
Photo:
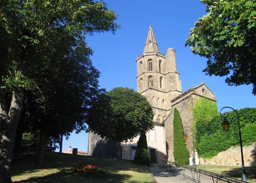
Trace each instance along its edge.
<path fill-rule="evenodd" d="M 213 173 L 213 172 L 209 172 L 209 171 L 206 171 L 206 170 L 202 170 L 202 169 L 197 169 L 197 168 L 194 168 L 194 167 L 190 167 L 190 166 L 187 166 L 187 165 L 181 165 L 179 163 L 175 163 L 175 162 L 172 162 L 172 161 L 169 161 L 169 160 L 166 160 L 166 159 L 162 159 L 162 163 L 163 163 L 163 166 L 164 166 L 164 163 L 169 163 L 169 164 L 173 164 L 173 167 L 176 167 L 176 172 L 178 172 L 178 168 L 179 167 L 182 167 L 182 175 L 183 177 L 185 178 L 189 178 L 191 179 L 193 182 L 198 182 L 200 183 L 200 175 L 201 174 L 204 174 L 204 175 L 208 175 L 208 176 L 211 176 L 212 177 L 212 180 L 214 182 L 214 179 L 213 178 L 216 178 L 218 182 L 218 179 L 219 180 L 222 180 L 222 181 L 225 181 L 225 182 L 229 182 L 229 183 L 249 183 L 249 182 L 246 182 L 246 181 L 243 181 L 243 180 L 239 180 L 239 179 L 235 179 L 235 178 L 232 178 L 232 177 L 228 177 L 228 176 L 225 176 L 225 175 L 220 175 L 220 174 L 216 174 L 216 173 Z M 189 169 L 192 173 L 192 177 L 189 176 L 189 175 L 185 175 L 185 170 L 183 170 L 183 168 L 185 169 Z M 170 169 L 171 170 L 171 169 Z M 175 168 L 174 168 L 175 170 Z M 194 171 L 194 175 L 193 175 L 193 171 Z M 195 178 L 195 173 L 197 175 L 197 179 Z M 199 173 L 199 176 L 198 174 Z"/>

